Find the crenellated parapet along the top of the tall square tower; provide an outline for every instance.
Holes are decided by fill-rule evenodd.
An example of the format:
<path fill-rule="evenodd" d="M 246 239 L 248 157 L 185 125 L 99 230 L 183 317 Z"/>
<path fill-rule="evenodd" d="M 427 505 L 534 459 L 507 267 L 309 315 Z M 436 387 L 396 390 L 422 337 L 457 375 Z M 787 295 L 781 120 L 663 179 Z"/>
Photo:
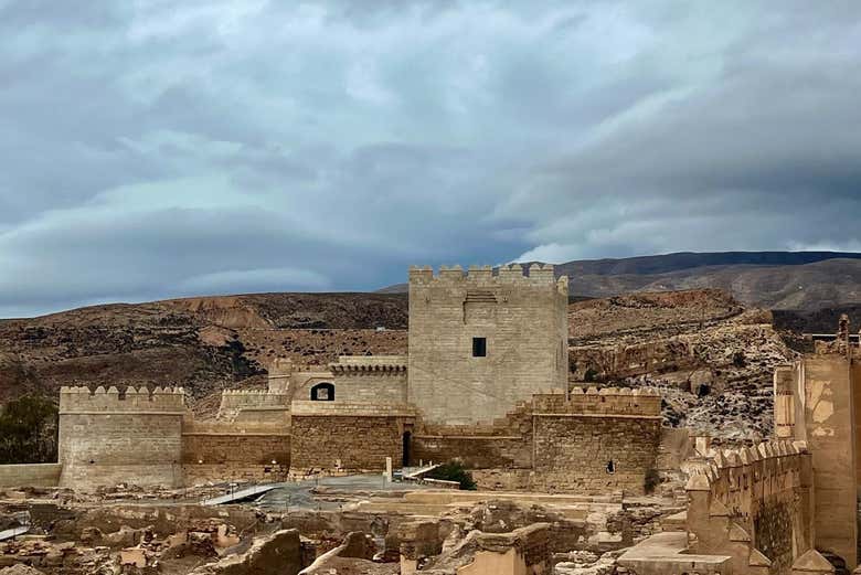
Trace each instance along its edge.
<path fill-rule="evenodd" d="M 493 268 L 491 266 L 470 266 L 466 271 L 460 266 L 442 266 L 437 275 L 434 275 L 434 269 L 429 266 L 412 266 L 410 268 L 411 285 L 421 286 L 433 285 L 435 283 L 464 283 L 467 285 L 506 285 L 514 283 L 522 285 L 555 284 L 560 289 L 564 288 L 567 294 L 568 278 L 567 276 L 563 276 L 556 279 L 551 264 L 532 264 L 529 268 L 524 268 L 520 264 L 511 264 L 501 266 L 497 275 L 493 275 Z"/>

